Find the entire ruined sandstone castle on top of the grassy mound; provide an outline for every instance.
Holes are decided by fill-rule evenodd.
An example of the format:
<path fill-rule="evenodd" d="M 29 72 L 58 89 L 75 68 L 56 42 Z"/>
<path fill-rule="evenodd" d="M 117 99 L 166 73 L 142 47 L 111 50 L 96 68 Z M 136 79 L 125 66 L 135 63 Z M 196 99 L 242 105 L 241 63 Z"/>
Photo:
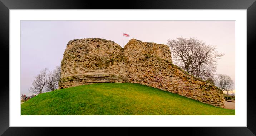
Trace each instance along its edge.
<path fill-rule="evenodd" d="M 131 39 L 124 49 L 110 40 L 71 40 L 61 61 L 59 88 L 90 83 L 139 83 L 223 107 L 219 88 L 172 64 L 167 45 Z"/>

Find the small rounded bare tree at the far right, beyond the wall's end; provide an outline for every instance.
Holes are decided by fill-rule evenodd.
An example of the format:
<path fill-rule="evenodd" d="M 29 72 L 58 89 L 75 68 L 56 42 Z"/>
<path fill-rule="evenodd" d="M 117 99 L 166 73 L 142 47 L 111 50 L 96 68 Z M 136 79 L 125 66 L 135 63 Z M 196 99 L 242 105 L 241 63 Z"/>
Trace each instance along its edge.
<path fill-rule="evenodd" d="M 232 89 L 233 80 L 230 78 L 230 76 L 225 74 L 218 74 L 217 77 L 218 79 L 216 85 L 221 89 L 221 91 L 227 91 L 228 95 L 228 91 Z"/>

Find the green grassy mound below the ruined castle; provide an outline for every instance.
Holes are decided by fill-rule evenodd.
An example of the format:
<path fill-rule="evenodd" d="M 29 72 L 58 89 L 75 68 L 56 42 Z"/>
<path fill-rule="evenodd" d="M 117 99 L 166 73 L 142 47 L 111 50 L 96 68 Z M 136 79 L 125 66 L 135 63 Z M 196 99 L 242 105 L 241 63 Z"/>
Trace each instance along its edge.
<path fill-rule="evenodd" d="M 156 88 L 96 83 L 39 94 L 21 104 L 21 115 L 235 115 Z"/>

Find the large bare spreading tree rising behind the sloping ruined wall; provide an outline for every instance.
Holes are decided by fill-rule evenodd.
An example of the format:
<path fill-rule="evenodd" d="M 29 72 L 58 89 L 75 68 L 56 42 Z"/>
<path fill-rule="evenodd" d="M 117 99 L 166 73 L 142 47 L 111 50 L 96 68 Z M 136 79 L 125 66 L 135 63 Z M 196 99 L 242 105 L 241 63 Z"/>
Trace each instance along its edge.
<path fill-rule="evenodd" d="M 216 48 L 205 45 L 196 38 L 176 38 L 168 40 L 173 61 L 191 75 L 207 80 L 213 78 L 216 72 L 217 59 L 224 54 L 218 53 Z"/>

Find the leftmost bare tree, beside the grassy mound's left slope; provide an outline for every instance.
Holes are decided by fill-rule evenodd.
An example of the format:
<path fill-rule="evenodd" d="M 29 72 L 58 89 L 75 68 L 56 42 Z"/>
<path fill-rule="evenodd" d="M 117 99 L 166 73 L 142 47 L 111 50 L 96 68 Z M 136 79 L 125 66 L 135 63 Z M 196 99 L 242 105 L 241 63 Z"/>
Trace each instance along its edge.
<path fill-rule="evenodd" d="M 46 84 L 47 70 L 48 70 L 47 68 L 41 70 L 40 74 L 38 74 L 35 77 L 35 80 L 32 82 L 32 87 L 29 88 L 29 92 L 36 93 L 36 94 L 43 93 L 43 89 Z"/>

